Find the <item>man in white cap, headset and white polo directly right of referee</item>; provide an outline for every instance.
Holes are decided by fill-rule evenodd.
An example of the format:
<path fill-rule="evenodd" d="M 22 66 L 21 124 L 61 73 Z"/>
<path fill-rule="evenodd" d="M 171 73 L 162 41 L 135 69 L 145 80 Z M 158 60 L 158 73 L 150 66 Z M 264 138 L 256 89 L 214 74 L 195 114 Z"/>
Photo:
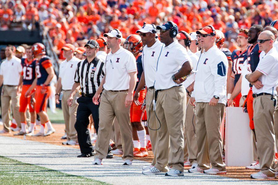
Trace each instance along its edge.
<path fill-rule="evenodd" d="M 107 47 L 111 53 L 105 62 L 106 74 L 102 80 L 103 92 L 99 106 L 99 132 L 95 144 L 95 160 L 100 165 L 106 157 L 110 142 L 113 120 L 116 116 L 123 145 L 123 165 L 131 165 L 133 160 L 133 139 L 130 123 L 130 106 L 133 102 L 133 91 L 137 80 L 136 59 L 131 52 L 121 47 L 122 33 L 118 29 L 110 30 L 103 35 L 107 37 Z M 98 104 L 102 91 L 100 87 L 93 102 Z"/>

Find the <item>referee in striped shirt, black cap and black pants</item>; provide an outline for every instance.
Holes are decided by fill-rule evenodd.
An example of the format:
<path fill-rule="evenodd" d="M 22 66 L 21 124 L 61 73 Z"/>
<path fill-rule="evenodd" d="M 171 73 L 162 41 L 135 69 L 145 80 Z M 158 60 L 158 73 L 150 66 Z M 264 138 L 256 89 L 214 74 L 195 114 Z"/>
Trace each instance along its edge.
<path fill-rule="evenodd" d="M 91 157 L 95 154 L 91 144 L 90 132 L 87 127 L 89 125 L 89 116 L 92 114 L 95 130 L 96 133 L 98 133 L 99 105 L 93 103 L 92 97 L 95 95 L 105 75 L 105 68 L 103 68 L 104 63 L 96 57 L 96 53 L 99 51 L 99 44 L 95 40 L 89 40 L 85 47 L 87 58 L 77 64 L 74 84 L 71 89 L 71 95 L 67 101 L 68 105 L 71 106 L 73 101 L 75 101 L 73 99 L 74 95 L 81 88 L 81 97 L 77 99 L 79 105 L 76 113 L 76 123 L 74 125 L 82 153 L 77 157 Z"/>

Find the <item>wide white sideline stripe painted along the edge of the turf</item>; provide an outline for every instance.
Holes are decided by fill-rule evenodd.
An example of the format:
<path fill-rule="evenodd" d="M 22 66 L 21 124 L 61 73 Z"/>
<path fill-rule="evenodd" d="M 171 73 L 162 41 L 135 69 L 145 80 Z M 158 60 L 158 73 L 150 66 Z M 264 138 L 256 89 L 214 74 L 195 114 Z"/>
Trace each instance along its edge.
<path fill-rule="evenodd" d="M 0 136 L 0 156 L 35 164 L 71 175 L 79 175 L 111 184 L 145 185 L 145 184 L 213 184 L 223 183 L 261 184 L 262 181 L 240 180 L 216 175 L 189 174 L 184 171 L 184 177 L 169 177 L 164 175 L 143 175 L 141 167 L 150 163 L 133 160 L 132 166 L 122 166 L 122 159 L 104 159 L 103 165 L 92 165 L 90 158 L 77 158 L 79 149 L 65 146 L 23 140 L 19 138 Z M 263 181 L 263 183 L 276 183 L 276 181 Z"/>

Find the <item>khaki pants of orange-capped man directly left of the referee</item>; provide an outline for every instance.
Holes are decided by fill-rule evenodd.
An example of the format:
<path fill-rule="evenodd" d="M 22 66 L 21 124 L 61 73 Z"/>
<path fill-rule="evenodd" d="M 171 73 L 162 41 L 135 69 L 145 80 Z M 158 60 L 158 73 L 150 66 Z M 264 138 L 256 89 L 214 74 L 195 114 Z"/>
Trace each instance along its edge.
<path fill-rule="evenodd" d="M 67 133 L 67 140 L 73 140 L 77 142 L 77 132 L 74 128 L 74 124 L 76 122 L 76 111 L 78 107 L 78 103 L 75 101 L 77 97 L 79 97 L 79 93 L 76 93 L 73 98 L 73 104 L 71 107 L 68 106 L 67 100 L 70 97 L 71 90 L 62 90 L 62 110 L 64 114 L 65 120 L 65 132 Z"/>

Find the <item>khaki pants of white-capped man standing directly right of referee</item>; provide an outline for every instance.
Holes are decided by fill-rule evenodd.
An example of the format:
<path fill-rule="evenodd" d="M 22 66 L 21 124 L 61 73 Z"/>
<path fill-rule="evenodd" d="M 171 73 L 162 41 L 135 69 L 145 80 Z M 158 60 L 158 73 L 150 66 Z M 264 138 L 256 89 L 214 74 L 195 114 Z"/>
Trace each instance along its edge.
<path fill-rule="evenodd" d="M 123 160 L 133 160 L 133 139 L 130 124 L 130 106 L 124 102 L 127 91 L 111 92 L 104 90 L 99 106 L 99 131 L 95 144 L 95 158 L 103 159 L 107 156 L 112 125 L 115 119 L 119 121 L 122 136 Z"/>

